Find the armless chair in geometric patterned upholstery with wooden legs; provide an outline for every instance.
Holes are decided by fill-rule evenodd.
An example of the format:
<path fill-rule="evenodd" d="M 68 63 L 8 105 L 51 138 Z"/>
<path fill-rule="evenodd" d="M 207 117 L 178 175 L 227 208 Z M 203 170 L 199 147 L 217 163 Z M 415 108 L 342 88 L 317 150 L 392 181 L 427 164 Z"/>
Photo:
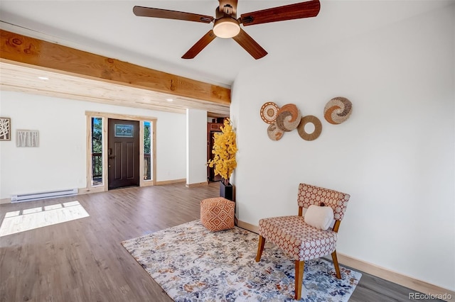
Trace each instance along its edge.
<path fill-rule="evenodd" d="M 265 240 L 278 245 L 289 257 L 292 257 L 295 262 L 296 300 L 301 299 L 301 286 L 303 284 L 306 260 L 331 254 L 336 276 L 341 279 L 340 268 L 336 258 L 336 240 L 338 228 L 346 211 L 349 198 L 348 194 L 339 191 L 310 184 L 299 184 L 299 194 L 297 196 L 299 216 L 282 216 L 259 220 L 259 244 L 257 246 L 256 262 L 261 259 Z M 333 223 L 332 228 L 323 230 L 319 228 L 319 225 L 314 227 L 306 223 L 306 220 L 309 222 L 309 219 L 305 219 L 302 216 L 303 208 L 309 208 L 311 205 L 314 205 L 311 207 L 312 209 L 315 206 L 325 206 L 333 210 L 335 222 L 331 221 Z M 316 211 L 318 211 L 317 208 Z"/>

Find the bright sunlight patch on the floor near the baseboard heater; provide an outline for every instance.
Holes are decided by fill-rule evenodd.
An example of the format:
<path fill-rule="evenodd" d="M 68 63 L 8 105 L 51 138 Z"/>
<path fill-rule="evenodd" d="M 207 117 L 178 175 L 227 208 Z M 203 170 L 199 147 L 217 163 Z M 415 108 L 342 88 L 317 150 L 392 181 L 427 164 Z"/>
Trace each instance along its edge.
<path fill-rule="evenodd" d="M 1 222 L 0 237 L 88 216 L 90 215 L 88 215 L 79 201 L 8 212 Z"/>

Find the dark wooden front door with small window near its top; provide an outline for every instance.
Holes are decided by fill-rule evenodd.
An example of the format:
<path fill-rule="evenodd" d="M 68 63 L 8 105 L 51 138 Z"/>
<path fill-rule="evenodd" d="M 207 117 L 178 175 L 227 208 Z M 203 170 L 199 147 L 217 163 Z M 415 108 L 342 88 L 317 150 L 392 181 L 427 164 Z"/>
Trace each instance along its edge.
<path fill-rule="evenodd" d="M 139 121 L 109 118 L 108 187 L 139 186 Z"/>

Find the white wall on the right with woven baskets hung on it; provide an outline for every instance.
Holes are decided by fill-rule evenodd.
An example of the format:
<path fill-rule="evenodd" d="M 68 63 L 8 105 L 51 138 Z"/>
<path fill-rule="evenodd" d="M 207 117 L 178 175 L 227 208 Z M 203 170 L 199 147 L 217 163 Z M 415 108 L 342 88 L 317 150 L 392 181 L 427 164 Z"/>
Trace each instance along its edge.
<path fill-rule="evenodd" d="M 452 4 L 240 72 L 231 106 L 239 219 L 295 215 L 300 182 L 345 191 L 338 252 L 454 290 L 454 20 Z M 335 96 L 353 102 L 341 125 L 323 119 Z M 317 116 L 321 136 L 269 140 L 259 116 L 267 101 Z"/>

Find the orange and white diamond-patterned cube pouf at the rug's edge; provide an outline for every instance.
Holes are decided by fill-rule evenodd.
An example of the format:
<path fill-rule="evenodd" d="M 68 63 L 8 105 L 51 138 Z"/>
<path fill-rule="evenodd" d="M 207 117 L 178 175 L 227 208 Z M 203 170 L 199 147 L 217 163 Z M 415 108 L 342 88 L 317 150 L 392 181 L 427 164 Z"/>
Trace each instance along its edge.
<path fill-rule="evenodd" d="M 234 228 L 235 202 L 223 197 L 200 201 L 200 222 L 213 232 Z"/>

